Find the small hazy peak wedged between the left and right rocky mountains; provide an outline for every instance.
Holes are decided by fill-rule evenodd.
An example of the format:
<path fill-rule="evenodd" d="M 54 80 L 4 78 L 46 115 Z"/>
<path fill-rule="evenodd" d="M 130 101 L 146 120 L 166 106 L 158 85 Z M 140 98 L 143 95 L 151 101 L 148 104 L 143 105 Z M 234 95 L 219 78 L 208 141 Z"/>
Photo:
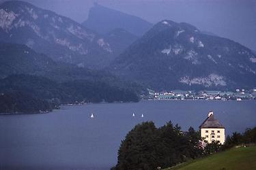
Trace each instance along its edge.
<path fill-rule="evenodd" d="M 118 56 L 128 46 L 130 46 L 136 39 L 138 39 L 136 35 L 129 33 L 124 29 L 113 29 L 106 35 L 104 35 L 104 39 L 109 42 L 109 45 L 113 47 L 113 51 L 115 52 L 115 56 Z"/>

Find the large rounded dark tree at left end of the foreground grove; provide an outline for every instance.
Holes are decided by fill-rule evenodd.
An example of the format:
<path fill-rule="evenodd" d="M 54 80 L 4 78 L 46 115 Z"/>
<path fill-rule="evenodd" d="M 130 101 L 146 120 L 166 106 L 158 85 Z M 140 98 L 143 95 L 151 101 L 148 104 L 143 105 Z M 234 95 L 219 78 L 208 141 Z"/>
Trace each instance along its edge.
<path fill-rule="evenodd" d="M 153 122 L 135 126 L 121 143 L 116 169 L 156 169 L 160 155 L 157 141 Z"/>

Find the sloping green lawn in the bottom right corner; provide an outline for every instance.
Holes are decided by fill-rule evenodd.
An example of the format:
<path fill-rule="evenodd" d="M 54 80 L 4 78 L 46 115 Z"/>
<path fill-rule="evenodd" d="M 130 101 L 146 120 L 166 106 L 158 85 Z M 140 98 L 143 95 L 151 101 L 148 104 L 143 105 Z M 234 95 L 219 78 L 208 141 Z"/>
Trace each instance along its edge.
<path fill-rule="evenodd" d="M 168 170 L 175 169 L 256 170 L 256 146 L 232 148 L 225 152 L 212 154 L 205 158 L 199 158 L 176 167 L 171 167 Z"/>

